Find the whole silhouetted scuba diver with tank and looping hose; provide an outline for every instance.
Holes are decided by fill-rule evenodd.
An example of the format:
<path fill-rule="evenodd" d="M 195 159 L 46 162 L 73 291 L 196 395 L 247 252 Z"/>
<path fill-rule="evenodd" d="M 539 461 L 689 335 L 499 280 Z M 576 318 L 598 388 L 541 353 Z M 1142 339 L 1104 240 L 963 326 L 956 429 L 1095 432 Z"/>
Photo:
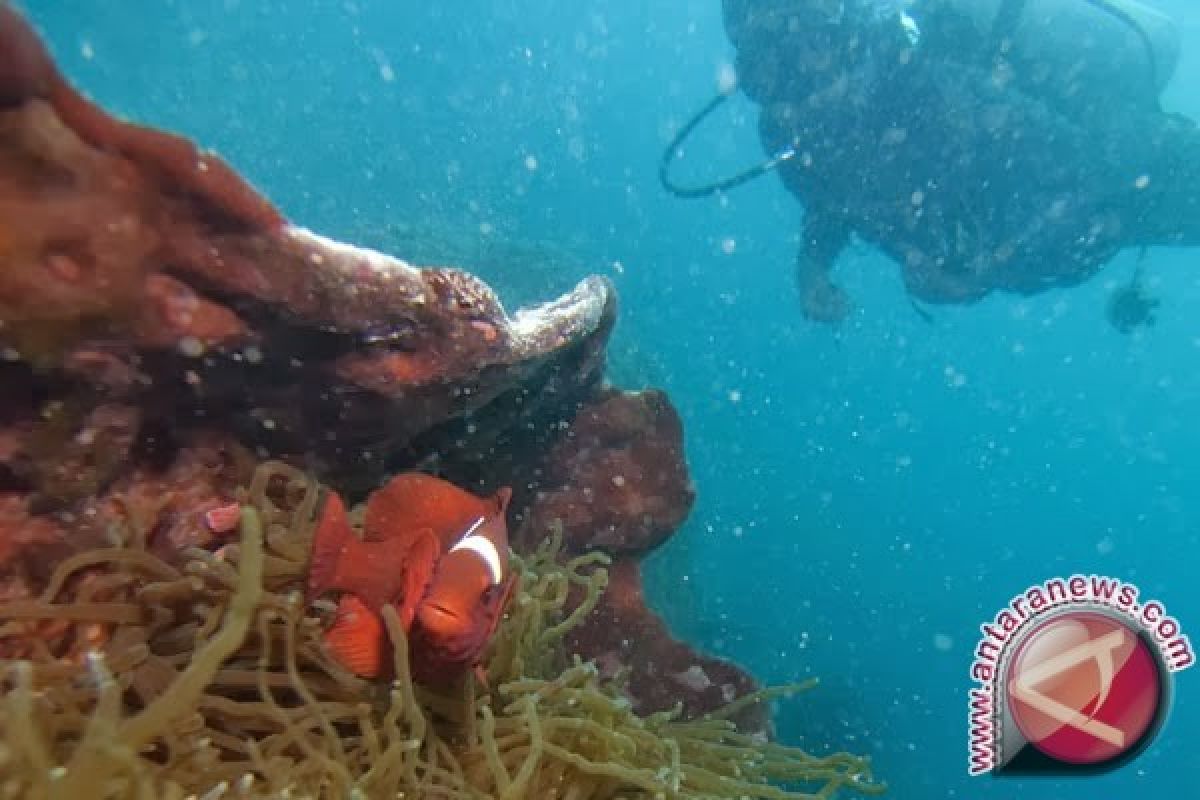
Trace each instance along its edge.
<path fill-rule="evenodd" d="M 769 170 L 804 205 L 803 309 L 836 323 L 852 235 L 912 297 L 1078 284 L 1124 247 L 1200 245 L 1200 130 L 1158 96 L 1171 22 L 1135 0 L 724 0 Z M 918 308 L 919 309 L 919 308 Z"/>

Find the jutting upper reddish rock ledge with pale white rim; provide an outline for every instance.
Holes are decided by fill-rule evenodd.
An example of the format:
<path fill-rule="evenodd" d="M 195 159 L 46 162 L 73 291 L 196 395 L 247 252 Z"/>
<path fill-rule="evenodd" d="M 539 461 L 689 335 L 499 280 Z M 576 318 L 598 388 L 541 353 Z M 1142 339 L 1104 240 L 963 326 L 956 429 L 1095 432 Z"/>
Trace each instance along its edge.
<path fill-rule="evenodd" d="M 0 18 L 0 349 L 38 385 L 98 387 L 143 426 L 235 429 L 366 488 L 414 439 L 517 387 L 535 404 L 602 347 L 604 279 L 510 317 L 466 272 L 292 225 L 214 156 L 91 104 Z"/>

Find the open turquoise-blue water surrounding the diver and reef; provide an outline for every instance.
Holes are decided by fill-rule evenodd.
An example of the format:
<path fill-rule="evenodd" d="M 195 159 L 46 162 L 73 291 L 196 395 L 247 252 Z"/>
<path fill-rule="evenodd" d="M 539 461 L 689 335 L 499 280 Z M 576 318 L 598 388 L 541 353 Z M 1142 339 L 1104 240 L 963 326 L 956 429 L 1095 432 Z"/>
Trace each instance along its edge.
<path fill-rule="evenodd" d="M 562 247 L 546 295 L 608 275 L 613 377 L 670 392 L 700 497 L 650 595 L 764 681 L 822 676 L 780 706 L 784 738 L 870 753 L 895 798 L 1198 796 L 1190 672 L 1153 746 L 1082 781 L 968 778 L 965 703 L 978 625 L 1052 575 L 1136 582 L 1200 636 L 1195 253 L 1148 254 L 1159 323 L 1124 337 L 1103 308 L 1129 255 L 926 324 L 858 247 L 833 332 L 799 315 L 800 210 L 774 178 L 726 201 L 656 182 L 732 58 L 718 0 L 43 5 L 25 4 L 89 94 L 215 148 L 302 224 Z M 1184 35 L 1166 103 L 1200 116 L 1200 12 L 1159 5 Z M 695 175 L 762 157 L 754 113 L 701 132 Z"/>

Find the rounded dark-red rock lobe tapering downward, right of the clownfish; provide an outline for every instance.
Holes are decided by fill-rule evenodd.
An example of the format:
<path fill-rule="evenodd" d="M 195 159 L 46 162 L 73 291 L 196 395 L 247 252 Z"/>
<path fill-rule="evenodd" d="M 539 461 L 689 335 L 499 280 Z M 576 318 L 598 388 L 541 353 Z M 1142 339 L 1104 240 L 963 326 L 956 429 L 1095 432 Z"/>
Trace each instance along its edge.
<path fill-rule="evenodd" d="M 569 552 L 614 558 L 608 591 L 570 644 L 602 670 L 626 668 L 635 708 L 664 711 L 682 703 L 692 718 L 757 690 L 734 664 L 673 638 L 642 593 L 638 559 L 679 528 L 695 500 L 683 425 L 666 395 L 596 391 L 547 450 L 534 486 L 520 547 L 558 531 Z M 738 723 L 769 730 L 762 705 L 744 709 Z"/>

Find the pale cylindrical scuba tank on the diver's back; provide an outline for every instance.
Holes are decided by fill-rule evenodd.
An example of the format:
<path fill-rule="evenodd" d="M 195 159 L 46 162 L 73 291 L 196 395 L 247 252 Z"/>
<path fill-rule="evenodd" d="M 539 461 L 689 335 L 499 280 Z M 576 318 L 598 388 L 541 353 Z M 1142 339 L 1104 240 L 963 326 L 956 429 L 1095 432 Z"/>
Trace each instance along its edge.
<path fill-rule="evenodd" d="M 991 60 L 997 78 L 1063 110 L 1158 108 L 1175 23 L 1138 0 L 917 0 L 930 53 Z"/>

